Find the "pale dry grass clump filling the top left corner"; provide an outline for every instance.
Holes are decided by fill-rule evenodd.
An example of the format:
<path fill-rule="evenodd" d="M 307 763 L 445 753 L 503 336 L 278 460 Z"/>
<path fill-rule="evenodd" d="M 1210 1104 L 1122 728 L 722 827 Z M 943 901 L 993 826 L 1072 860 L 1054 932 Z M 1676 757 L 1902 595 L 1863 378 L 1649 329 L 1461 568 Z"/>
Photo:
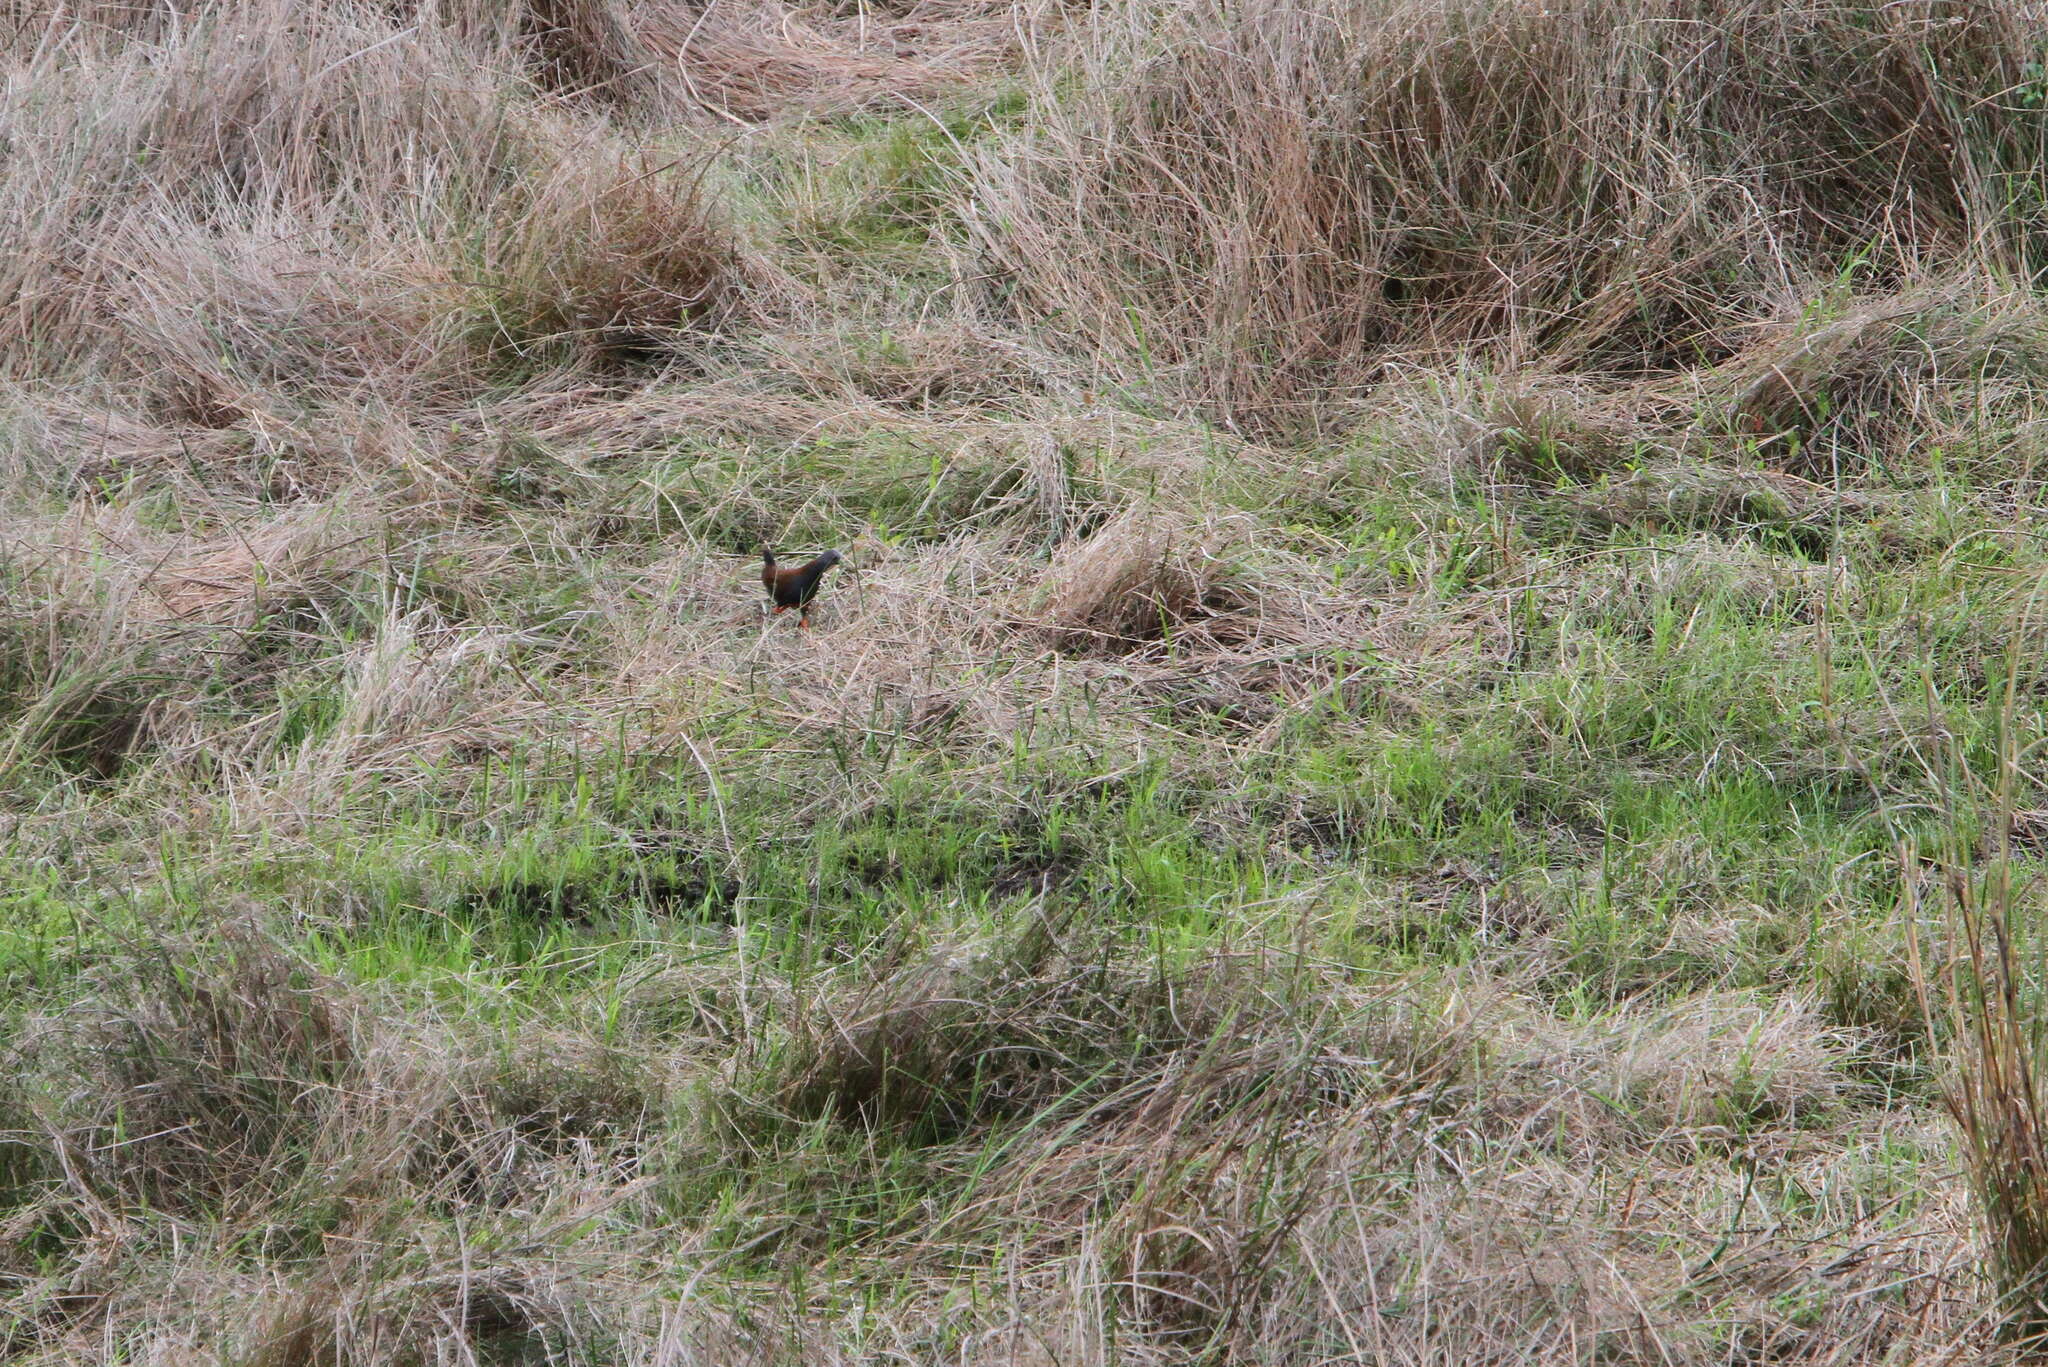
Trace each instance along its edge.
<path fill-rule="evenodd" d="M 745 268 L 690 154 L 532 107 L 446 29 L 272 4 L 94 37 L 8 72 L 10 379 L 289 428 L 371 396 L 461 404 L 508 348 L 604 361 L 735 307 Z"/>

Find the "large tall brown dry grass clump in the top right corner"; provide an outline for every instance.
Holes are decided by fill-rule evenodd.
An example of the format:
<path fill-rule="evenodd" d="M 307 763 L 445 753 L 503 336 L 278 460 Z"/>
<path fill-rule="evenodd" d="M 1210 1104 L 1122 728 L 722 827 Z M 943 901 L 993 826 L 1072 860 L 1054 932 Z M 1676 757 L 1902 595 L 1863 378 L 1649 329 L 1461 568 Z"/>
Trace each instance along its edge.
<path fill-rule="evenodd" d="M 1020 316 L 1305 422 L 1411 357 L 1661 371 L 1860 266 L 2042 260 L 2025 4 L 1126 6 L 981 166 Z M 1853 55 L 1851 55 L 1853 53 Z M 2015 197 L 2019 197 L 2015 201 Z"/>

